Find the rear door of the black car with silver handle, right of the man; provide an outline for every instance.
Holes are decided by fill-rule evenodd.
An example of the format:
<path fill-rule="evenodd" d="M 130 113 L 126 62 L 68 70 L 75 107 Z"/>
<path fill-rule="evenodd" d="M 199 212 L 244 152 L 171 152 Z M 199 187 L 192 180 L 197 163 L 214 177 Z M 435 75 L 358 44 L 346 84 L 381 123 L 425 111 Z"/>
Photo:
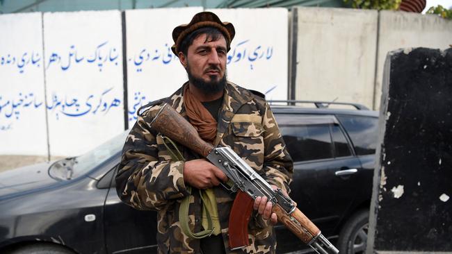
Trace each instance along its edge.
<path fill-rule="evenodd" d="M 333 115 L 284 114 L 276 118 L 293 159 L 290 196 L 324 235 L 331 235 L 353 202 L 360 160 Z M 286 230 L 278 231 L 278 239 L 284 237 L 280 251 L 302 247 Z"/>

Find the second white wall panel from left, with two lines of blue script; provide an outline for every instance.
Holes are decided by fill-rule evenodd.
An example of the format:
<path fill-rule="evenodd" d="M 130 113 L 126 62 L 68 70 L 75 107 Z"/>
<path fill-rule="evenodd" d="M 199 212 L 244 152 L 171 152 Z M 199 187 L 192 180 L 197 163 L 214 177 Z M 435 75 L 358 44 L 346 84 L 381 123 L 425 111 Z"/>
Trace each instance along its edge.
<path fill-rule="evenodd" d="M 44 14 L 51 155 L 73 156 L 124 130 L 120 11 Z"/>

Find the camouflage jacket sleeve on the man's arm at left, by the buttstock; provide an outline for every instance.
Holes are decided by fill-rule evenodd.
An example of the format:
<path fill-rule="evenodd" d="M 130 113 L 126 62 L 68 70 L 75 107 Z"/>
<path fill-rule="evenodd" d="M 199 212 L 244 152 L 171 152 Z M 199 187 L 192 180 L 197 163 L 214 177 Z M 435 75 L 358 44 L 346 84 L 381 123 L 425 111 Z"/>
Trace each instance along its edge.
<path fill-rule="evenodd" d="M 172 200 L 188 195 L 184 162 L 159 158 L 149 122 L 138 117 L 127 136 L 115 178 L 116 192 L 124 203 L 138 210 L 161 210 Z"/>

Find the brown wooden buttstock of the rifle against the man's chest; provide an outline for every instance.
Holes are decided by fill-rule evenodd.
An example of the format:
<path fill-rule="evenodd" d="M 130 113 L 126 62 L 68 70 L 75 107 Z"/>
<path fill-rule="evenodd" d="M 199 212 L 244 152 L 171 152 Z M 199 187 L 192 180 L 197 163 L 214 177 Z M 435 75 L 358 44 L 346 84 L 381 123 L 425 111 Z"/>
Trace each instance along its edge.
<path fill-rule="evenodd" d="M 213 145 L 202 140 L 197 130 L 174 108 L 165 103 L 151 122 L 151 128 L 206 158 Z"/>

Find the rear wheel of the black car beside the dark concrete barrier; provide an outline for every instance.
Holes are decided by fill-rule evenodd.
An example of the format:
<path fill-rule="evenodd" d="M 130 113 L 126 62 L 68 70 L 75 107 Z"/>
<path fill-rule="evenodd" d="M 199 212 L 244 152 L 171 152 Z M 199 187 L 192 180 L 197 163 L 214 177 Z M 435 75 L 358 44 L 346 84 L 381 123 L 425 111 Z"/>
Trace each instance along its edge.
<path fill-rule="evenodd" d="M 341 254 L 366 253 L 367 235 L 369 232 L 369 211 L 362 210 L 353 214 L 344 224 L 337 244 Z"/>

